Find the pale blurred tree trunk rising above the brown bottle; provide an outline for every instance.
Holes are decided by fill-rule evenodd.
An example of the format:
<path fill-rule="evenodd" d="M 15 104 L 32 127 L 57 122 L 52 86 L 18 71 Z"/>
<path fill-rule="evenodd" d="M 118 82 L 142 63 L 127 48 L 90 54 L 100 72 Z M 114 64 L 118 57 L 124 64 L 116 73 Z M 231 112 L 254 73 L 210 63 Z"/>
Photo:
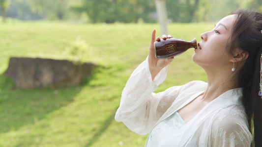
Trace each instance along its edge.
<path fill-rule="evenodd" d="M 168 35 L 168 15 L 167 15 L 167 7 L 166 0 L 155 0 L 156 12 L 158 23 L 161 26 L 161 35 Z"/>

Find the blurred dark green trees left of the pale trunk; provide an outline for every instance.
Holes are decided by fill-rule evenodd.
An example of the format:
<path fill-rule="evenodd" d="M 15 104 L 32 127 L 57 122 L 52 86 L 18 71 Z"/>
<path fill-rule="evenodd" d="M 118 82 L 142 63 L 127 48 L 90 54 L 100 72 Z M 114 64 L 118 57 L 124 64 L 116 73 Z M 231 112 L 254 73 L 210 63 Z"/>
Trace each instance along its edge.
<path fill-rule="evenodd" d="M 83 0 L 75 10 L 86 12 L 92 23 L 155 21 L 149 16 L 155 12 L 154 0 Z"/>

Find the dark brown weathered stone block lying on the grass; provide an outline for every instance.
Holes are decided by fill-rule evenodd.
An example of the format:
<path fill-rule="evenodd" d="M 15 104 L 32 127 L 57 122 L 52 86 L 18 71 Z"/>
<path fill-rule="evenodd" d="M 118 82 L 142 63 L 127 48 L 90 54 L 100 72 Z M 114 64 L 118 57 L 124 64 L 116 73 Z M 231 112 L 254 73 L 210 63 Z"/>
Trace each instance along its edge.
<path fill-rule="evenodd" d="M 5 75 L 14 80 L 16 88 L 68 87 L 82 84 L 95 67 L 68 60 L 11 57 Z"/>

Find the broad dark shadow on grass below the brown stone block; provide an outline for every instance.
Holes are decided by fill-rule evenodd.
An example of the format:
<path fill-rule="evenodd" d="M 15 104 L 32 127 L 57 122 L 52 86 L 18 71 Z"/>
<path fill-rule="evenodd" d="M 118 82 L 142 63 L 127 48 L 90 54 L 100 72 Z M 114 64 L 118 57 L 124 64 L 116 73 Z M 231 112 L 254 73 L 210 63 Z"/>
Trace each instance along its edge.
<path fill-rule="evenodd" d="M 49 113 L 68 105 L 82 89 L 13 89 L 14 83 L 0 74 L 0 134 L 37 123 Z"/>

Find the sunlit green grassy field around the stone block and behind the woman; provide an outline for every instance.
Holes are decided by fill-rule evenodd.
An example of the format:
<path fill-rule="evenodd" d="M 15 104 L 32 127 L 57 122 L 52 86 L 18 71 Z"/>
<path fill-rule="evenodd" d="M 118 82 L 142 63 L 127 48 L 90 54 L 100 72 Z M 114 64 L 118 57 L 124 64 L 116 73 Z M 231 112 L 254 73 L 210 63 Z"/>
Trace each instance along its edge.
<path fill-rule="evenodd" d="M 174 37 L 200 41 L 213 24 L 170 24 Z M 138 135 L 115 121 L 121 91 L 132 71 L 146 59 L 157 24 L 0 24 L 0 147 L 144 147 Z M 159 32 L 157 32 L 159 35 Z M 4 76 L 9 57 L 76 59 L 99 65 L 82 86 L 14 89 Z M 175 57 L 156 92 L 191 80 L 206 80 L 192 60 L 193 49 Z"/>

